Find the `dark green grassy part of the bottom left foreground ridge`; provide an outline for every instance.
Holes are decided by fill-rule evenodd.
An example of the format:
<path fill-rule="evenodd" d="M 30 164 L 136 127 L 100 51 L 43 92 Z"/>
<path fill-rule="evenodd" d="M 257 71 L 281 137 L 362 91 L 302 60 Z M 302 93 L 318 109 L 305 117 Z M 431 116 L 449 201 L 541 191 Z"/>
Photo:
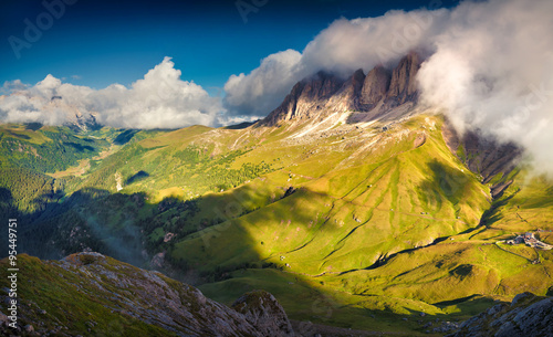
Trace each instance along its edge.
<path fill-rule="evenodd" d="M 4 271 L 8 268 L 8 259 L 0 262 L 2 274 L 7 273 Z M 97 294 L 109 291 L 115 294 L 121 289 L 107 284 L 104 284 L 107 288 L 98 289 L 91 281 L 90 272 L 84 268 L 71 270 L 69 266 L 44 263 L 28 255 L 18 256 L 18 266 L 22 271 L 21 276 L 24 273 L 33 275 L 32 281 L 28 281 L 27 284 L 19 281 L 21 285 L 17 293 L 20 324 L 31 324 L 36 328 L 53 330 L 56 334 L 63 330 L 70 335 L 83 335 L 87 330 L 90 336 L 108 336 L 117 331 L 123 334 L 122 336 L 167 336 L 168 334 L 167 330 L 146 324 L 131 315 L 122 315 L 121 309 L 114 310 L 113 308 L 117 305 L 114 306 L 114 302 L 107 296 L 97 296 Z M 125 271 L 125 265 L 118 265 L 118 262 L 114 260 L 108 260 L 105 267 L 113 272 Z M 127 273 L 131 276 L 133 271 L 128 270 Z M 7 275 L 2 277 L 1 285 L 9 287 Z M 123 291 L 124 294 L 131 292 L 132 289 Z M 63 303 L 63 306 L 60 303 Z M 7 308 L 8 306 L 2 304 L 2 312 L 8 313 Z M 39 326 L 40 322 L 43 324 L 45 322 L 46 326 Z M 92 329 L 94 334 L 91 334 Z"/>

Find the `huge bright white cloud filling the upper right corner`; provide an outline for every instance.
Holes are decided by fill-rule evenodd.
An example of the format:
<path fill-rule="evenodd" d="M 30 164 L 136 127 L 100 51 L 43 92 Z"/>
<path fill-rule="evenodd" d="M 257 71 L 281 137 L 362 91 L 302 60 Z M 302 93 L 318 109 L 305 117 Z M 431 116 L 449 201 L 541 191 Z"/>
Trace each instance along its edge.
<path fill-rule="evenodd" d="M 463 2 L 435 38 L 418 75 L 426 103 L 458 130 L 480 129 L 526 149 L 553 172 L 553 2 Z"/>

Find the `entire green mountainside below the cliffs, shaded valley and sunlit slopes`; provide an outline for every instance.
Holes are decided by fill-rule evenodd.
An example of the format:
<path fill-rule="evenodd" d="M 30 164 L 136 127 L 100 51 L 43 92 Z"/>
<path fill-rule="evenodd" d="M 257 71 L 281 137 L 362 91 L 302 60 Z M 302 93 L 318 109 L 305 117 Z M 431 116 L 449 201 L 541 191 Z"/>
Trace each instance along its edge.
<path fill-rule="evenodd" d="M 63 194 L 25 238 L 36 254 L 161 268 L 227 304 L 263 288 L 292 318 L 405 334 L 551 292 L 553 251 L 498 242 L 540 229 L 553 243 L 551 182 L 518 168 L 482 183 L 442 124 L 103 129 L 86 165 L 53 173 Z M 510 185 L 493 199 L 493 183 Z"/>

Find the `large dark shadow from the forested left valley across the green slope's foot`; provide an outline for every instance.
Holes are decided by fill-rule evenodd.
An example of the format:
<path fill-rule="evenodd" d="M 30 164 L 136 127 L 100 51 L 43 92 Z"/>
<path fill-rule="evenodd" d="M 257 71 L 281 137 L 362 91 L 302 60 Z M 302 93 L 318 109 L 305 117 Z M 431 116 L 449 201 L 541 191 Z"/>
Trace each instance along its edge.
<path fill-rule="evenodd" d="M 0 189 L 0 197 L 2 201 L 10 202 L 11 193 Z M 261 255 L 260 245 L 268 251 L 279 252 L 280 248 L 286 246 L 281 243 L 289 238 L 265 236 L 263 242 L 259 242 L 250 234 L 249 225 L 271 221 L 280 223 L 283 229 L 290 227 L 292 232 L 296 232 L 298 228 L 306 230 L 314 219 L 313 214 L 304 211 L 305 202 L 325 202 L 313 200 L 315 197 L 304 189 L 286 196 L 283 188 L 281 196 L 271 198 L 260 196 L 249 186 L 242 186 L 230 194 L 208 194 L 188 201 L 166 198 L 150 203 L 145 193 L 109 193 L 86 188 L 59 202 L 44 197 L 44 209 L 20 214 L 19 252 L 41 259 L 61 259 L 86 249 L 137 266 L 160 270 L 181 281 L 190 282 L 188 275 L 191 272 L 200 275 L 200 278 L 196 278 L 199 283 L 216 284 L 213 282 L 236 280 L 238 283 L 233 283 L 233 292 L 243 293 L 254 288 L 280 292 L 276 298 L 295 319 L 345 328 L 358 327 L 351 317 L 374 322 L 386 319 L 390 322 L 392 330 L 393 324 L 406 316 L 342 303 L 340 298 L 315 288 L 312 285 L 315 278 L 292 274 L 284 262 L 269 263 L 268 256 Z M 263 200 L 262 210 L 259 203 L 250 202 L 254 198 Z M 336 224 L 324 220 L 317 231 L 332 230 Z M 274 245 L 274 250 L 271 250 L 271 245 Z M 177 249 L 185 252 L 180 259 L 171 257 Z M 293 248 L 289 245 L 289 249 Z M 145 256 L 145 252 L 149 256 Z M 153 259 L 164 252 L 165 264 L 161 263 L 164 257 L 159 255 Z M 250 280 L 249 283 L 240 283 L 237 277 L 242 271 L 262 268 L 284 276 Z M 292 287 L 301 289 L 293 298 L 286 292 Z M 296 306 L 294 302 L 301 302 L 301 305 Z M 430 319 L 427 317 L 421 320 Z M 416 324 L 415 328 L 419 325 Z"/>

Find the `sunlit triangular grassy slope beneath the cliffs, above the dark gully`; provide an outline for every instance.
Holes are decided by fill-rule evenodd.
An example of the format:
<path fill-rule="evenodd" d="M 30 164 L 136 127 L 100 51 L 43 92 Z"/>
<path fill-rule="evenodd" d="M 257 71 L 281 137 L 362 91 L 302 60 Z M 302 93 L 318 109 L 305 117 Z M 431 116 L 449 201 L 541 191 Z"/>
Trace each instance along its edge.
<path fill-rule="evenodd" d="M 364 152 L 363 141 L 354 144 L 336 158 L 338 168 L 327 160 L 327 151 L 306 158 L 316 169 L 326 166 L 319 177 L 305 176 L 310 171 L 301 161 L 292 164 L 283 170 L 295 193 L 195 234 L 176 244 L 174 254 L 204 270 L 231 268 L 257 255 L 275 265 L 288 263 L 294 272 L 338 274 L 478 225 L 489 207 L 487 188 L 462 169 L 440 143 L 439 131 L 425 133 L 419 147 L 414 141 L 421 130 L 396 131 L 404 138 L 377 135 L 377 144 Z M 365 158 L 376 160 L 363 162 Z M 276 189 L 281 172 L 268 175 L 264 183 Z"/>

